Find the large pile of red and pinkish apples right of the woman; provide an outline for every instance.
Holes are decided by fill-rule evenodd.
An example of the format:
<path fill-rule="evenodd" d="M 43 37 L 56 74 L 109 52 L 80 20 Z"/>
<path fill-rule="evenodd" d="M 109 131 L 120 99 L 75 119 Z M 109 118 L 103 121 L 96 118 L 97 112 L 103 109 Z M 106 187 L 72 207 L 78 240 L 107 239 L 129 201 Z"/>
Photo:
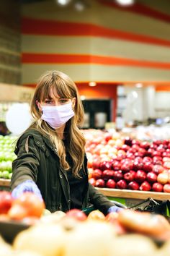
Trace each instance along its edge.
<path fill-rule="evenodd" d="M 170 140 L 86 133 L 89 182 L 94 187 L 170 192 Z"/>

